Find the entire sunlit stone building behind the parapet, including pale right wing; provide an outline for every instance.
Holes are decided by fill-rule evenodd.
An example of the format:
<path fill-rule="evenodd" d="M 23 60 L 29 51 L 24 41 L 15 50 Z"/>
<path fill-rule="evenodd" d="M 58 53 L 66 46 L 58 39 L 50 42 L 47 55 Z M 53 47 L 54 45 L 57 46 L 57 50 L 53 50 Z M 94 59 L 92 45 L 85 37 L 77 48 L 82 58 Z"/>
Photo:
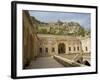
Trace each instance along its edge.
<path fill-rule="evenodd" d="M 38 34 L 39 56 L 59 55 L 75 62 L 90 66 L 91 39 L 64 35 Z"/>

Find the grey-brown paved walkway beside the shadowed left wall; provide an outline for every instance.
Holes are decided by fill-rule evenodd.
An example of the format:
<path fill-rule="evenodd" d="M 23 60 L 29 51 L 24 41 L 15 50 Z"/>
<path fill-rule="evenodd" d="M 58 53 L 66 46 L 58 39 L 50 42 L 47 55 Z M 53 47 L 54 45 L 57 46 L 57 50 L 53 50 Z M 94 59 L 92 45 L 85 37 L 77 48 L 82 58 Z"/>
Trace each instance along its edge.
<path fill-rule="evenodd" d="M 35 61 L 32 61 L 27 67 L 27 69 L 36 68 L 61 68 L 64 67 L 62 64 L 58 63 L 53 57 L 40 57 Z"/>

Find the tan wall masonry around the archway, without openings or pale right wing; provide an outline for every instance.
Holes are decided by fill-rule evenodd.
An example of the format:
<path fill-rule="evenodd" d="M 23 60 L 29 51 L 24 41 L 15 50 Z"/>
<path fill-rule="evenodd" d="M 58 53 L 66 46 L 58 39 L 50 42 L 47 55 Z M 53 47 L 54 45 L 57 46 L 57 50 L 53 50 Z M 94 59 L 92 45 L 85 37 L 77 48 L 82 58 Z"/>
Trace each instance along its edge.
<path fill-rule="evenodd" d="M 38 36 L 41 41 L 41 48 L 43 49 L 42 55 L 55 55 L 59 54 L 58 52 L 58 45 L 64 44 L 65 45 L 65 54 L 72 54 L 72 53 L 82 53 L 82 43 L 79 39 L 76 38 L 68 38 L 64 36 L 53 36 L 53 35 L 39 35 Z M 69 51 L 69 47 L 71 50 Z M 79 49 L 77 49 L 77 47 Z M 48 53 L 46 53 L 45 48 L 48 48 Z M 52 48 L 55 49 L 52 52 Z M 75 49 L 74 49 L 75 48 Z M 62 53 L 63 54 L 63 53 Z"/>

